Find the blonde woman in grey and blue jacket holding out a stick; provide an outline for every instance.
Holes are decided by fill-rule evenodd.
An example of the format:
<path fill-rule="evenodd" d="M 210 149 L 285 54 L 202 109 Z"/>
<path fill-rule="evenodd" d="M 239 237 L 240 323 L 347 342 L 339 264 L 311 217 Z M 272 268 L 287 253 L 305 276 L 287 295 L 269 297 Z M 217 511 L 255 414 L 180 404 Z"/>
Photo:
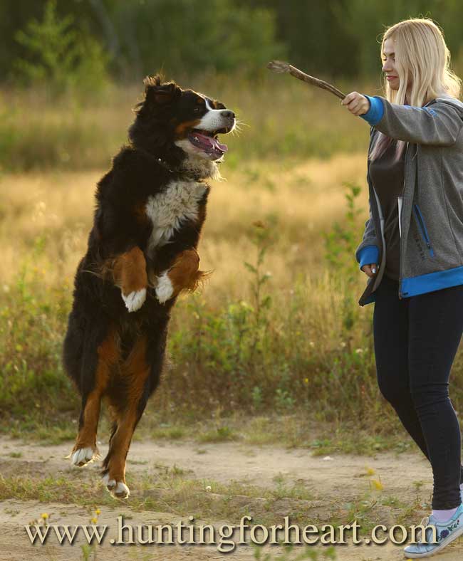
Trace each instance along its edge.
<path fill-rule="evenodd" d="M 461 436 L 449 374 L 463 331 L 462 81 L 430 19 L 387 28 L 385 97 L 342 100 L 370 128 L 370 218 L 355 251 L 369 277 L 359 304 L 375 303 L 380 391 L 430 460 L 429 529 L 405 547 L 430 557 L 463 534 Z M 435 527 L 436 541 L 433 541 Z"/>

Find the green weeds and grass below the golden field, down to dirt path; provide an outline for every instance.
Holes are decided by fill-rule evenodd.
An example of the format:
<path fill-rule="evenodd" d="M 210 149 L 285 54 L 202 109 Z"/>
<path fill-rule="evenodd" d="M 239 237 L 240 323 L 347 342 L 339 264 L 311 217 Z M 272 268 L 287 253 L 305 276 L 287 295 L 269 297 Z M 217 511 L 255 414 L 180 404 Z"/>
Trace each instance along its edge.
<path fill-rule="evenodd" d="M 253 275 L 251 287 L 259 283 Z M 180 300 L 169 340 L 175 367 L 150 400 L 135 439 L 147 434 L 199 444 L 281 444 L 318 454 L 406 450 L 407 439 L 397 439 L 397 432 L 403 434 L 400 422 L 380 397 L 373 341 L 362 321 L 346 329 L 345 311 L 334 310 L 340 324 L 333 338 L 348 344 L 311 345 L 298 335 L 311 321 L 310 297 L 301 281 L 286 308 L 264 307 L 265 292 L 254 302 L 239 300 L 219 309 L 202 296 Z M 61 365 L 70 298 L 68 286 L 50 290 L 26 266 L 0 294 L 4 434 L 50 444 L 75 437 L 80 404 Z M 457 363 L 457 383 L 462 372 Z M 458 408 L 458 395 L 455 401 Z M 326 430 L 314 435 L 311 423 Z M 108 431 L 103 415 L 100 434 Z"/>

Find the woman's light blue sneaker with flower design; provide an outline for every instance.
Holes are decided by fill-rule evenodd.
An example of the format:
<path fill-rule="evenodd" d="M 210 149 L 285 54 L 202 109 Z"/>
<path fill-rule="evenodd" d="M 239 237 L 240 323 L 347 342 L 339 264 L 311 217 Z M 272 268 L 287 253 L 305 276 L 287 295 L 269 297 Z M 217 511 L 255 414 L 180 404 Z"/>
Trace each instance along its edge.
<path fill-rule="evenodd" d="M 456 540 L 463 534 L 463 503 L 457 508 L 450 520 L 447 522 L 437 522 L 432 515 L 426 516 L 422 519 L 421 525 L 435 526 L 436 528 L 436 542 L 433 543 L 432 528 L 425 530 L 425 539 L 418 543 L 407 545 L 404 549 L 406 557 L 410 559 L 418 559 L 419 557 L 431 557 L 438 553 L 450 542 Z"/>

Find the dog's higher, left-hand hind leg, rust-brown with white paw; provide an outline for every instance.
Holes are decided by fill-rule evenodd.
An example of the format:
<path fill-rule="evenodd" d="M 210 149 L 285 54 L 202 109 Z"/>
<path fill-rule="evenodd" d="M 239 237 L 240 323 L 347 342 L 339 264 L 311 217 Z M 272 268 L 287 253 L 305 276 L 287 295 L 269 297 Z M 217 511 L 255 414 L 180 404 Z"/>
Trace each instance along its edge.
<path fill-rule="evenodd" d="M 80 387 L 82 406 L 79 431 L 76 444 L 71 451 L 71 463 L 75 466 L 85 466 L 98 456 L 96 434 L 100 418 L 100 402 L 108 387 L 111 369 L 118 362 L 114 330 L 108 330 L 103 342 L 98 346 L 93 345 L 91 338 L 86 343 Z"/>

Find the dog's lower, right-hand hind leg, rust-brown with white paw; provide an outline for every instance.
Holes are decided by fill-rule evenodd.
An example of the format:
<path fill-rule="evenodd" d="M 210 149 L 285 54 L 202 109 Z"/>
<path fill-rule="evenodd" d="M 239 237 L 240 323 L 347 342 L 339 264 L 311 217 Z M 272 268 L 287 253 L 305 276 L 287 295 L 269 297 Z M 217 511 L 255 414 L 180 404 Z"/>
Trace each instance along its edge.
<path fill-rule="evenodd" d="M 103 460 L 103 483 L 115 497 L 126 498 L 130 491 L 125 482 L 125 460 L 135 427 L 145 410 L 147 399 L 154 392 L 164 357 L 165 332 L 150 342 L 140 337 L 121 368 L 124 392 L 109 392 L 113 411 L 113 434 L 108 455 Z M 160 344 L 162 340 L 162 343 Z"/>

